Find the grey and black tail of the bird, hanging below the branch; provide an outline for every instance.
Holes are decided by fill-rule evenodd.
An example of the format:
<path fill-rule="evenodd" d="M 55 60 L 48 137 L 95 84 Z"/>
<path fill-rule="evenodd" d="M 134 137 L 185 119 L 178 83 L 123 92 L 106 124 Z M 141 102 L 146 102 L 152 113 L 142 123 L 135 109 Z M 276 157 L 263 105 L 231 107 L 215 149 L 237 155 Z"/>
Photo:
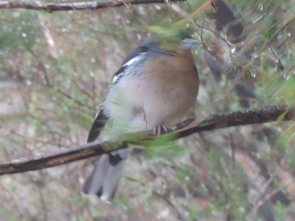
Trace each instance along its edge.
<path fill-rule="evenodd" d="M 85 182 L 83 192 L 96 194 L 102 201 L 110 203 L 130 152 L 131 148 L 127 148 L 102 155 Z"/>

